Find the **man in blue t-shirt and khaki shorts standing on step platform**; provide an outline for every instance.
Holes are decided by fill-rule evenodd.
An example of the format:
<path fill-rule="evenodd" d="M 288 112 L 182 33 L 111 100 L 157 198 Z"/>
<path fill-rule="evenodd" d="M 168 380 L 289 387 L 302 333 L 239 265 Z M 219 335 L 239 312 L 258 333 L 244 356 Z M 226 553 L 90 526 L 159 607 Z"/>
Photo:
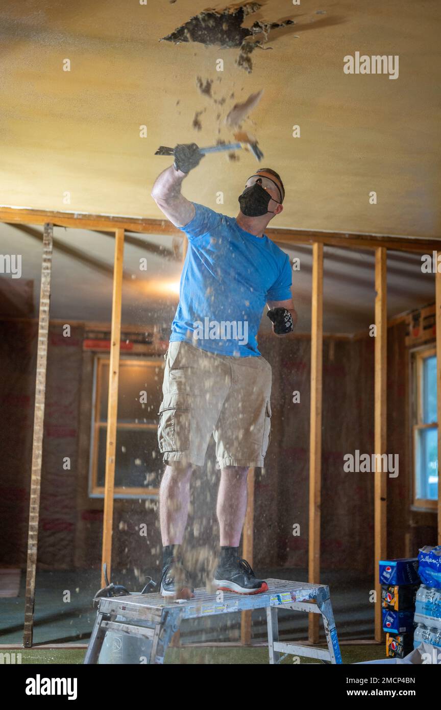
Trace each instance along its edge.
<path fill-rule="evenodd" d="M 283 210 L 281 178 L 269 168 L 257 170 L 239 197 L 238 217 L 228 217 L 181 194 L 182 180 L 203 157 L 196 143 L 176 146 L 174 164 L 152 189 L 157 206 L 189 240 L 158 425 L 167 464 L 160 486 L 161 594 L 182 599 L 194 596 L 182 562 L 190 477 L 203 466 L 212 434 L 220 469 L 220 559 L 213 583 L 238 594 L 268 589 L 238 557 L 247 472 L 263 466 L 271 429 L 272 369 L 256 335 L 265 303 L 275 334 L 288 334 L 297 320 L 289 257 L 264 235 Z"/>

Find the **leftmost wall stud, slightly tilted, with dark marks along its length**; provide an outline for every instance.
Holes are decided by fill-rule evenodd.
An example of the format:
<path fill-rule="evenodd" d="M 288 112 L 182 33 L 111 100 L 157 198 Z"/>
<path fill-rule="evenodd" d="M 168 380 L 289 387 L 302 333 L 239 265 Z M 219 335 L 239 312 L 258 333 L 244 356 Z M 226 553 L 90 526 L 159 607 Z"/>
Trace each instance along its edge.
<path fill-rule="evenodd" d="M 41 463 L 43 427 L 45 420 L 46 368 L 48 364 L 48 334 L 50 307 L 50 276 L 52 271 L 52 224 L 43 230 L 43 258 L 41 263 L 40 310 L 38 314 L 37 367 L 35 372 L 35 405 L 30 474 L 28 523 L 28 558 L 26 562 L 26 597 L 23 646 L 30 648 L 33 641 L 35 605 L 35 573 L 38 553 L 38 521 L 40 518 Z"/>

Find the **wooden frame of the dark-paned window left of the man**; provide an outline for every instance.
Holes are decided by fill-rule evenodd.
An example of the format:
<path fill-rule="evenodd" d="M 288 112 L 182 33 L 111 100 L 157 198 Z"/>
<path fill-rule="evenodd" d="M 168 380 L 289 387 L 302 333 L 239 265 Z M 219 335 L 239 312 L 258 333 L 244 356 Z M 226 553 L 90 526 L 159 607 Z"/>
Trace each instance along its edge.
<path fill-rule="evenodd" d="M 120 354 L 120 368 L 125 366 L 125 363 L 130 364 L 146 364 L 157 366 L 164 369 L 164 356 L 133 356 Z M 92 381 L 92 398 L 91 398 L 91 430 L 90 430 L 90 445 L 89 445 L 89 498 L 104 498 L 104 486 L 98 485 L 98 454 L 99 454 L 99 430 L 107 429 L 108 422 L 101 422 L 99 418 L 99 408 L 101 403 L 101 386 L 103 377 L 101 374 L 104 365 L 110 367 L 110 353 L 94 353 L 94 368 Z M 159 405 L 158 405 L 159 406 Z M 147 424 L 145 422 L 136 424 L 135 422 L 116 421 L 116 429 L 144 429 L 146 431 L 156 431 L 157 424 Z M 159 447 L 158 447 L 159 452 Z M 114 498 L 143 498 L 157 501 L 159 498 L 159 488 L 121 488 L 115 486 L 113 494 Z"/>

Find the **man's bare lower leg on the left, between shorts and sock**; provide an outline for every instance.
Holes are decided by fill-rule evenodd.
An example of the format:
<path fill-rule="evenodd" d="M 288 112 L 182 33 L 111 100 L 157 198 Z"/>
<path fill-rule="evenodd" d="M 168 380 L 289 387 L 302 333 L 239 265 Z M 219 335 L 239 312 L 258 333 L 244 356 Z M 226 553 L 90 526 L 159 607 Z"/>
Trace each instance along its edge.
<path fill-rule="evenodd" d="M 179 461 L 165 466 L 160 486 L 162 545 L 182 545 L 189 515 L 190 479 L 193 466 Z"/>

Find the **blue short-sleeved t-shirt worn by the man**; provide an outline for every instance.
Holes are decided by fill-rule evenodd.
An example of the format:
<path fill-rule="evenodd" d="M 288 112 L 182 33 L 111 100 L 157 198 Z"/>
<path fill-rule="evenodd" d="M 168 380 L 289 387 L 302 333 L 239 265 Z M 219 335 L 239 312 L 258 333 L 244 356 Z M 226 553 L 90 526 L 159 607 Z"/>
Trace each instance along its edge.
<path fill-rule="evenodd" d="M 259 356 L 257 331 L 267 301 L 291 298 L 289 256 L 235 217 L 192 202 L 179 227 L 189 239 L 170 341 L 235 357 Z"/>

